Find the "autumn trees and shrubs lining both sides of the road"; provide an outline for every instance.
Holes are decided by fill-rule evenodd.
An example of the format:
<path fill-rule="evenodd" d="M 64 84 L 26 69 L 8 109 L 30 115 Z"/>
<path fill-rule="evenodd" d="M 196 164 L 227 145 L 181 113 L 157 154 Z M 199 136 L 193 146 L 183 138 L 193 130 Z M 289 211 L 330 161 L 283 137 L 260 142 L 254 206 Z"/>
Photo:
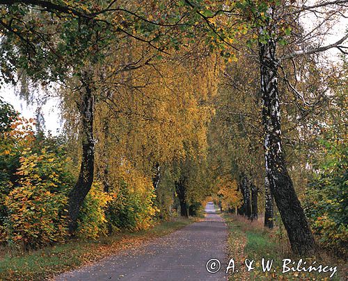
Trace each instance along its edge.
<path fill-rule="evenodd" d="M 347 273 L 347 8 L 0 0 L 0 256 L 199 221 L 211 201 Z"/>

